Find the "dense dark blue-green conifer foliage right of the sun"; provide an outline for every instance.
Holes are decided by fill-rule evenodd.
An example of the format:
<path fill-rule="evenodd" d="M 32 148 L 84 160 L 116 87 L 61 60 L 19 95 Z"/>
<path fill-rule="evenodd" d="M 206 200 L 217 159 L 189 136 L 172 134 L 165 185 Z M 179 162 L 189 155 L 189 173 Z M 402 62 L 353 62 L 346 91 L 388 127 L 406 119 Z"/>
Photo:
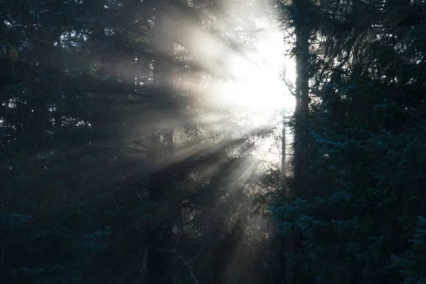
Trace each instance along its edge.
<path fill-rule="evenodd" d="M 310 57 L 307 174 L 272 208 L 302 243 L 286 251 L 295 283 L 425 283 L 425 2 L 280 9 L 310 43 L 296 48 Z"/>

